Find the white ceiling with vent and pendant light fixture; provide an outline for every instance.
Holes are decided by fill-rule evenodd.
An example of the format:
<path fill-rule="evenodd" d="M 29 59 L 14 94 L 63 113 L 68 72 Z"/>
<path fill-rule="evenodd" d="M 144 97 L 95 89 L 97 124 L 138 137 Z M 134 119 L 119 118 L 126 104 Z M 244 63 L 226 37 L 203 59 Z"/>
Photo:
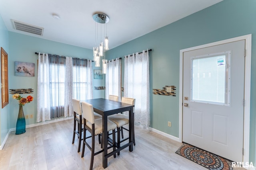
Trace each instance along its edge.
<path fill-rule="evenodd" d="M 0 15 L 8 31 L 92 49 L 95 45 L 92 15 L 102 12 L 110 18 L 107 33 L 112 49 L 220 1 L 0 0 Z M 53 13 L 60 19 L 53 18 Z M 43 27 L 43 35 L 15 30 L 11 19 Z"/>

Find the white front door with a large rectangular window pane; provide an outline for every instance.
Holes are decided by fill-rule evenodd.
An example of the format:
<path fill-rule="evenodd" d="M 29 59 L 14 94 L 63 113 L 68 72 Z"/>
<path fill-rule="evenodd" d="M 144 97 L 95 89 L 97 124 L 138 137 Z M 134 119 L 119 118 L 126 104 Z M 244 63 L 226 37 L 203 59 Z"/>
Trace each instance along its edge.
<path fill-rule="evenodd" d="M 243 160 L 245 40 L 183 53 L 184 142 Z"/>

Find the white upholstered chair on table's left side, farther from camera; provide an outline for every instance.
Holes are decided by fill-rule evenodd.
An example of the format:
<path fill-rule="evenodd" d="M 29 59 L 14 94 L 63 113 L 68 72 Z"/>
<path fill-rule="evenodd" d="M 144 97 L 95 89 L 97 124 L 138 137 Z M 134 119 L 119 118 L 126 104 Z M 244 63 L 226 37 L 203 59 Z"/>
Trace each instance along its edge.
<path fill-rule="evenodd" d="M 74 131 L 73 131 L 72 144 L 74 144 L 75 135 L 77 135 L 78 136 L 77 152 L 80 152 L 81 141 L 82 141 L 82 131 L 83 131 L 82 125 L 84 124 L 84 120 L 82 118 L 82 108 L 81 108 L 80 100 L 72 99 L 72 105 L 73 105 L 73 111 L 74 111 Z M 94 113 L 94 119 L 99 119 L 99 118 L 101 118 L 100 115 L 97 115 Z M 77 130 L 76 130 L 76 122 L 78 125 Z M 100 137 L 99 137 L 99 142 L 100 142 Z"/>

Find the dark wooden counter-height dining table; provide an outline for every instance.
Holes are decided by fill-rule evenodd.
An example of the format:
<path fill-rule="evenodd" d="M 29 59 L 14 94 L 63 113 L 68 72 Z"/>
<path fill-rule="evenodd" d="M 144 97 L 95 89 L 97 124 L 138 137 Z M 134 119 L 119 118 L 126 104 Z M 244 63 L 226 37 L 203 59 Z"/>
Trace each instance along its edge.
<path fill-rule="evenodd" d="M 93 111 L 102 115 L 102 166 L 103 168 L 107 168 L 108 158 L 110 156 L 120 152 L 120 150 L 123 150 L 126 147 L 129 147 L 130 152 L 133 151 L 134 105 L 116 102 L 104 98 L 88 99 L 82 101 L 92 104 Z M 129 111 L 129 141 L 119 148 L 116 148 L 116 150 L 108 153 L 108 131 L 106 130 L 108 116 L 124 111 Z"/>

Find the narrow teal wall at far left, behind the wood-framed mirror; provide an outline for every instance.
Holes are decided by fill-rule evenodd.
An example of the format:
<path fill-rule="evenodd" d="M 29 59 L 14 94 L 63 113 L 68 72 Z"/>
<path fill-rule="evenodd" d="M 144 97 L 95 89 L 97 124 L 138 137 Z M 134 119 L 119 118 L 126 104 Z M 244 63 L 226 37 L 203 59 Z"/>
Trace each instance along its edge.
<path fill-rule="evenodd" d="M 0 47 L 2 47 L 7 54 L 9 54 L 8 31 L 6 26 L 4 25 L 4 21 L 1 15 L 0 15 Z M 2 100 L 1 97 L 0 97 L 0 100 Z M 0 146 L 2 146 L 2 143 L 9 131 L 9 108 L 10 108 L 9 106 L 10 105 L 7 105 L 3 109 L 2 109 L 2 104 L 0 106 L 0 132 L 1 132 Z"/>

